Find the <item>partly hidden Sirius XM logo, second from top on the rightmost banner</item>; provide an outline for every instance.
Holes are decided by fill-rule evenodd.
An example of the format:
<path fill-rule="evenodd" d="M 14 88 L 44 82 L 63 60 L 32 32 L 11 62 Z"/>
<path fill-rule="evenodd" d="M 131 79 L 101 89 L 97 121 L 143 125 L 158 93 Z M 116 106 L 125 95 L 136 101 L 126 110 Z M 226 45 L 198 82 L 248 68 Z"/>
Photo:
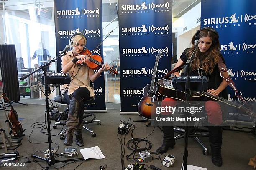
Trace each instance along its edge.
<path fill-rule="evenodd" d="M 230 42 L 220 46 L 220 51 L 225 54 L 239 54 L 239 52 L 245 52 L 245 54 L 253 54 L 254 49 L 256 49 L 256 44 L 253 43 L 236 43 Z"/>

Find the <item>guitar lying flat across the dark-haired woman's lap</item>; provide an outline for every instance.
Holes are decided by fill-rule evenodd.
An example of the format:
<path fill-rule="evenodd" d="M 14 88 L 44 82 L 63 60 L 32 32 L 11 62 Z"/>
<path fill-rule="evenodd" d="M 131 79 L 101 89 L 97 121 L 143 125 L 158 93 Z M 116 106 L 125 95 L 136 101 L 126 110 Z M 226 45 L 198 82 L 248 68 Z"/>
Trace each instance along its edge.
<path fill-rule="evenodd" d="M 166 80 L 166 79 L 160 79 L 157 82 L 157 92 L 165 97 L 170 97 L 173 99 L 177 99 L 177 100 L 182 100 L 185 101 L 186 100 L 186 96 L 185 96 L 185 92 L 180 92 L 180 91 L 176 91 L 174 89 L 174 87 L 172 86 L 172 80 Z M 233 102 L 233 101 L 229 101 L 223 97 L 219 97 L 219 96 L 215 96 L 215 95 L 211 95 L 209 92 L 206 91 L 201 91 L 201 92 L 194 92 L 192 94 L 192 96 L 190 97 L 189 100 L 193 101 L 190 104 L 199 104 L 200 101 L 204 101 L 206 98 L 210 99 L 210 100 L 215 100 L 215 101 L 219 101 L 222 103 L 225 103 L 227 105 L 236 107 L 240 110 L 242 110 L 243 112 L 246 112 L 250 119 L 252 117 L 255 117 L 255 112 L 253 112 L 251 109 L 248 109 L 246 107 L 244 107 L 242 104 L 237 103 L 237 102 Z M 196 103 L 195 101 L 198 101 L 198 103 Z"/>

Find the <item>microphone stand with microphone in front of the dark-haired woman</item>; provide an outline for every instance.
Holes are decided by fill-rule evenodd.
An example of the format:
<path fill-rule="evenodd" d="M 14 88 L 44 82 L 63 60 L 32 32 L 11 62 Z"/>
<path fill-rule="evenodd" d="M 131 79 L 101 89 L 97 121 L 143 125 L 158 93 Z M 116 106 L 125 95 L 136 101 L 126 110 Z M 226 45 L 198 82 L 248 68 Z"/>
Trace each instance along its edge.
<path fill-rule="evenodd" d="M 186 102 L 187 102 L 187 107 L 189 106 L 189 99 L 191 97 L 191 89 L 190 89 L 190 64 L 194 60 L 195 57 L 195 50 L 192 52 L 192 55 L 188 58 L 184 69 L 182 70 L 182 74 L 184 75 L 187 72 L 187 80 L 186 80 L 186 85 L 185 85 L 185 97 L 186 97 Z M 184 148 L 184 170 L 187 170 L 187 156 L 188 156 L 188 135 L 189 135 L 189 125 L 190 122 L 185 121 L 185 134 L 184 134 L 184 142 L 185 142 L 185 148 Z M 183 170 L 183 169 L 182 169 Z"/>

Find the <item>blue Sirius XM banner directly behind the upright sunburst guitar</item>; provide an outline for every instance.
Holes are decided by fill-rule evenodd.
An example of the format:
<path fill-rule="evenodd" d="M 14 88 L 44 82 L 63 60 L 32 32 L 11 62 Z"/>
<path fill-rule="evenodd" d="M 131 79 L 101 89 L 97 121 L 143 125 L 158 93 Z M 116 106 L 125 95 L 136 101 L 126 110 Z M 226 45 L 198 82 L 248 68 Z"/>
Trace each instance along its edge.
<path fill-rule="evenodd" d="M 134 113 L 159 50 L 155 81 L 171 69 L 172 0 L 118 0 L 118 16 L 121 113 Z"/>

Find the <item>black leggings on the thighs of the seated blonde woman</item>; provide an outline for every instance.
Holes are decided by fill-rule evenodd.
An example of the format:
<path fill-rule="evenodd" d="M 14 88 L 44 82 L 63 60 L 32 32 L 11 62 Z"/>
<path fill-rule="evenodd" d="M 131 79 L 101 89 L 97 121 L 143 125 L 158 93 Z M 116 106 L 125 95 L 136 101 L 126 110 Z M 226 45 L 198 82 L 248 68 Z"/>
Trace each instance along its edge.
<path fill-rule="evenodd" d="M 74 90 L 72 95 L 68 95 L 67 91 L 68 90 L 63 92 L 63 101 L 68 104 L 71 97 L 74 97 L 77 101 L 90 99 L 90 92 L 86 87 L 79 87 L 78 89 Z"/>

